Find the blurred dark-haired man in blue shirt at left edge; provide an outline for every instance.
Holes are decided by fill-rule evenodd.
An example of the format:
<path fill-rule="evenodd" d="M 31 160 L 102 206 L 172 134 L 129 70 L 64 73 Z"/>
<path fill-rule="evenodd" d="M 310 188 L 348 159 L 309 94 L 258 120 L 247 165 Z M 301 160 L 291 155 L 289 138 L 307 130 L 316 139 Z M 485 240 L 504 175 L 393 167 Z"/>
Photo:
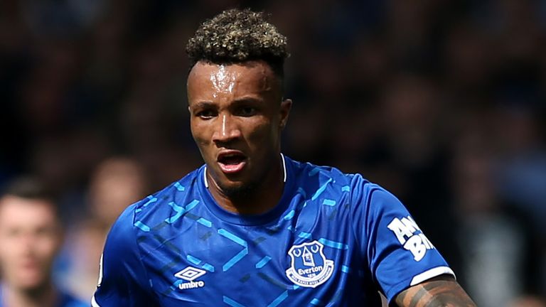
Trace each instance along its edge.
<path fill-rule="evenodd" d="M 58 208 L 43 185 L 18 178 L 0 198 L 0 306 L 83 307 L 55 286 L 53 260 L 63 242 Z"/>

